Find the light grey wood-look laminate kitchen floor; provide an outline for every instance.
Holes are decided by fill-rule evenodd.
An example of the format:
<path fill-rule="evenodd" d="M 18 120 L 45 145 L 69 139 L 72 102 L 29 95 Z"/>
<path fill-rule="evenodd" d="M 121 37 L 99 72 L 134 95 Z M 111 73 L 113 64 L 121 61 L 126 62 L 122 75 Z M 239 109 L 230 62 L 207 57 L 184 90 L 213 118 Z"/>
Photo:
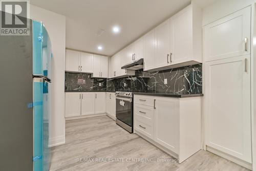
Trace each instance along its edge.
<path fill-rule="evenodd" d="M 205 151 L 197 152 L 181 164 L 157 162 L 157 159 L 173 158 L 138 135 L 126 132 L 108 116 L 66 121 L 66 143 L 52 150 L 50 170 L 248 170 Z M 124 162 L 96 162 L 102 158 Z M 131 159 L 151 161 L 126 162 Z"/>

